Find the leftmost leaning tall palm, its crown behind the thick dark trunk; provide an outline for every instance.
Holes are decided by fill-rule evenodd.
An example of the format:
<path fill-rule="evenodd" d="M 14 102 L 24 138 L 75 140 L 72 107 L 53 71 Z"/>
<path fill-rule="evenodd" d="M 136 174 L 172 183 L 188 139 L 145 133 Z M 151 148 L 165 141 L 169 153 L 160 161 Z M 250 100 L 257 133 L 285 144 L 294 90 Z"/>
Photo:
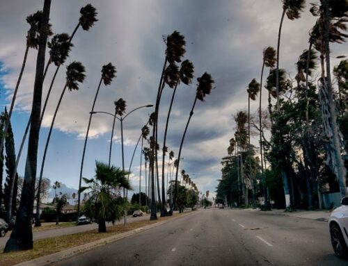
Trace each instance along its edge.
<path fill-rule="evenodd" d="M 28 24 L 30 25 L 30 28 L 29 28 L 29 31 L 27 32 L 27 35 L 26 35 L 26 49 L 24 52 L 24 59 L 23 59 L 23 63 L 22 63 L 22 68 L 19 72 L 17 84 L 16 84 L 15 90 L 13 92 L 10 110 L 8 111 L 8 119 L 6 119 L 5 128 L 3 130 L 3 135 L 1 136 L 0 151 L 3 147 L 3 142 L 5 141 L 5 136 L 6 136 L 7 131 L 8 131 L 8 125 L 10 124 L 10 119 L 12 116 L 13 108 L 15 107 L 15 100 L 17 97 L 19 83 L 22 80 L 22 75 L 24 72 L 24 67 L 26 65 L 26 58 L 28 57 L 29 48 L 38 49 L 39 38 L 40 38 L 40 28 L 41 28 L 41 24 L 42 24 L 42 11 L 39 10 L 36 13 L 26 17 L 26 22 L 28 22 Z M 51 26 L 52 26 L 51 24 L 47 24 L 47 26 L 45 28 L 45 33 L 48 36 L 53 34 Z"/>

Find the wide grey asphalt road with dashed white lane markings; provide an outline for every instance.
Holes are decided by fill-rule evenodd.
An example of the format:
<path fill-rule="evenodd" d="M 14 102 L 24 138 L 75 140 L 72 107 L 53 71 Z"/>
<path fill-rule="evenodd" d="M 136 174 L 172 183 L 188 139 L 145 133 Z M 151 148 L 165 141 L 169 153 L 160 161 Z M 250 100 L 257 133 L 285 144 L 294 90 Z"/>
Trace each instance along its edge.
<path fill-rule="evenodd" d="M 206 209 L 56 265 L 348 265 L 328 224 L 260 210 Z"/>

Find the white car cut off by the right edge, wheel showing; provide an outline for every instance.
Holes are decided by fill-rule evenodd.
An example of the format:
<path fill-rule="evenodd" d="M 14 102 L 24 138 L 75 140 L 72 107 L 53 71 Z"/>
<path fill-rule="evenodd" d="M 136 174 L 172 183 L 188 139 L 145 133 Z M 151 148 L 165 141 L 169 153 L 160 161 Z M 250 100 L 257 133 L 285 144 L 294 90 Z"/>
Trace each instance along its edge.
<path fill-rule="evenodd" d="M 339 258 L 348 258 L 348 197 L 329 217 L 329 228 L 333 251 Z"/>

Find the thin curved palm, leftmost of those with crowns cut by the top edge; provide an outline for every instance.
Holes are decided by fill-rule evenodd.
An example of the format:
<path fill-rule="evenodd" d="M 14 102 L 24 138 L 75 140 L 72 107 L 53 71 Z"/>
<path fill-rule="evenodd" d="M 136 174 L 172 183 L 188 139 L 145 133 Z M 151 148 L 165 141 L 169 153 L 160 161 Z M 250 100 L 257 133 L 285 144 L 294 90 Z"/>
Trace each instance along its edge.
<path fill-rule="evenodd" d="M 277 110 L 279 110 L 279 49 L 280 49 L 280 34 L 282 30 L 283 20 L 285 14 L 290 20 L 299 19 L 300 13 L 305 7 L 306 0 L 282 0 L 283 13 L 280 19 L 279 32 L 278 32 L 278 44 L 277 44 L 277 65 L 276 65 L 276 98 L 277 98 Z"/>

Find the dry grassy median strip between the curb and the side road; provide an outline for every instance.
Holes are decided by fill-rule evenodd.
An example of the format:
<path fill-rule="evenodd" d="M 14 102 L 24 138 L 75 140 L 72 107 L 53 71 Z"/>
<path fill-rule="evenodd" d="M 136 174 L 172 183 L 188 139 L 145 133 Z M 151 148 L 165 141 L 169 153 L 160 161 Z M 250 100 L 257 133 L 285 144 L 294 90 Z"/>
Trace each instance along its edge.
<path fill-rule="evenodd" d="M 97 229 L 86 231 L 83 233 L 74 233 L 72 235 L 61 235 L 55 238 L 45 238 L 43 240 L 36 240 L 33 244 L 33 249 L 26 251 L 17 251 L 11 253 L 0 253 L 0 265 L 1 266 L 10 266 L 17 263 L 22 263 L 27 260 L 33 260 L 34 258 L 47 256 L 52 253 L 63 251 L 71 247 L 76 247 L 81 244 L 86 244 L 100 240 L 102 238 L 107 238 L 111 235 L 118 235 L 120 233 L 125 233 L 127 231 L 134 230 L 149 224 L 155 224 L 157 222 L 164 221 L 166 219 L 171 219 L 183 215 L 184 213 L 177 213 L 170 217 L 159 217 L 155 221 L 138 221 L 126 224 L 118 224 L 116 226 L 107 227 L 106 233 L 98 233 Z M 48 227 L 48 226 L 44 226 Z"/>

